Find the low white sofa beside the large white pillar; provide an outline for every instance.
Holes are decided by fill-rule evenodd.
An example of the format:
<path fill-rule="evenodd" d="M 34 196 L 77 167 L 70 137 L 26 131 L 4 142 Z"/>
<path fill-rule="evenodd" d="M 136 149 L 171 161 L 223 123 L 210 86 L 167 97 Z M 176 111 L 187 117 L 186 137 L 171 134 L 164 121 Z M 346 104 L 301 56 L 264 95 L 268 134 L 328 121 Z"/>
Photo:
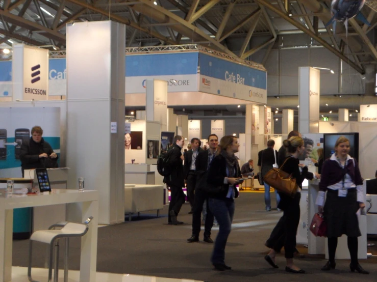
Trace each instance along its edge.
<path fill-rule="evenodd" d="M 144 184 L 125 184 L 124 185 L 124 214 L 129 214 L 129 221 L 132 214 L 143 211 L 159 210 L 164 207 L 164 186 L 163 185 L 144 185 Z"/>

